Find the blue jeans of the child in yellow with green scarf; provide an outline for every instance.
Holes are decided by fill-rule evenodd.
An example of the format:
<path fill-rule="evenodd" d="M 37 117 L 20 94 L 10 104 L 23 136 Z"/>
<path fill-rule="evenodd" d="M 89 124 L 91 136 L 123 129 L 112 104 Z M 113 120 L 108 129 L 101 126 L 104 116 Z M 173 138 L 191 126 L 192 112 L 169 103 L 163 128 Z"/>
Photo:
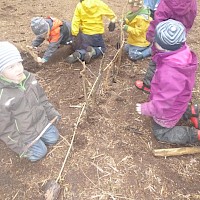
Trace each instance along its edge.
<path fill-rule="evenodd" d="M 124 50 L 133 61 L 146 58 L 151 55 L 151 45 L 148 47 L 138 47 L 125 44 Z"/>

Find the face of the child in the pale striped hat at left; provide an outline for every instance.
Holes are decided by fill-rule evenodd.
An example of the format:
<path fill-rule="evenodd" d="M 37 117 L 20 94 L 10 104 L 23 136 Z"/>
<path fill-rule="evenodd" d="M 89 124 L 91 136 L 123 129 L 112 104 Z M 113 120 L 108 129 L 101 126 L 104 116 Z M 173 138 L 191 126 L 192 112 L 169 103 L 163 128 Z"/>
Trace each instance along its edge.
<path fill-rule="evenodd" d="M 14 83 L 20 83 L 25 77 L 24 67 L 21 62 L 15 63 L 6 67 L 1 75 Z"/>

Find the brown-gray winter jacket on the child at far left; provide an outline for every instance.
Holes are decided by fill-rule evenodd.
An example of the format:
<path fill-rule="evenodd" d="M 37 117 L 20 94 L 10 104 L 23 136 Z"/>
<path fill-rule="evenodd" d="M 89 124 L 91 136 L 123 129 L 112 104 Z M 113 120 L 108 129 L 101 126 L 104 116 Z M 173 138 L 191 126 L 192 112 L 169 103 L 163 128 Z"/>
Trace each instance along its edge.
<path fill-rule="evenodd" d="M 48 102 L 35 77 L 15 84 L 0 79 L 0 139 L 18 154 L 59 113 Z"/>

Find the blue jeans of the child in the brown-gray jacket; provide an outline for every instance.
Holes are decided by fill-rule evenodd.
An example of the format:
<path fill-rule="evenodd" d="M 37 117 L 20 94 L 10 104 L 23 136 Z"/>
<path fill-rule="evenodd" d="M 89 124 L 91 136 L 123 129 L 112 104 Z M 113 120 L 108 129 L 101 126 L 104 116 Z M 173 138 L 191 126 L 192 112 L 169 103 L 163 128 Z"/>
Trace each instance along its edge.
<path fill-rule="evenodd" d="M 43 136 L 29 148 L 27 158 L 32 162 L 40 160 L 47 154 L 46 145 L 53 145 L 58 139 L 58 129 L 54 125 L 51 125 Z"/>

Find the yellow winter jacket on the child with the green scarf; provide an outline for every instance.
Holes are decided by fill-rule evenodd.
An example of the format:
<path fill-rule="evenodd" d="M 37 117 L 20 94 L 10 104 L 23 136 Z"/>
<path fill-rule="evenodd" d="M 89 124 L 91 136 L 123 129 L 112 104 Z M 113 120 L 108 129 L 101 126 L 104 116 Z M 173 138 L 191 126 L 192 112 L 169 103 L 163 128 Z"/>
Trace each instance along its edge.
<path fill-rule="evenodd" d="M 150 10 L 141 8 L 136 13 L 129 12 L 125 18 L 124 30 L 128 33 L 127 43 L 138 47 L 147 47 L 146 32 L 152 20 Z"/>

